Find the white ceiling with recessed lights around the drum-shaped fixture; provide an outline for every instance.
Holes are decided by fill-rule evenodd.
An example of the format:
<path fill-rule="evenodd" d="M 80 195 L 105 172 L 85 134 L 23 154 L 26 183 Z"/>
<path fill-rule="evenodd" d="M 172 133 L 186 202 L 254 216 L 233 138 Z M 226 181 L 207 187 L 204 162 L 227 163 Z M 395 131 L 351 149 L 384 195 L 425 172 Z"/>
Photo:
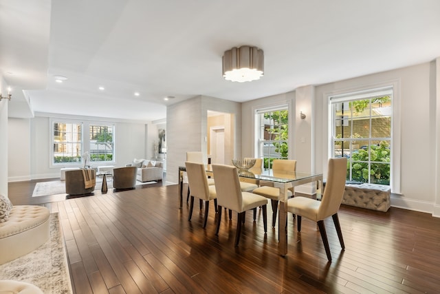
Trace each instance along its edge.
<path fill-rule="evenodd" d="M 439 12 L 438 0 L 1 0 L 0 74 L 10 117 L 161 120 L 198 95 L 250 101 L 432 61 Z M 240 45 L 263 49 L 261 80 L 221 76 Z"/>

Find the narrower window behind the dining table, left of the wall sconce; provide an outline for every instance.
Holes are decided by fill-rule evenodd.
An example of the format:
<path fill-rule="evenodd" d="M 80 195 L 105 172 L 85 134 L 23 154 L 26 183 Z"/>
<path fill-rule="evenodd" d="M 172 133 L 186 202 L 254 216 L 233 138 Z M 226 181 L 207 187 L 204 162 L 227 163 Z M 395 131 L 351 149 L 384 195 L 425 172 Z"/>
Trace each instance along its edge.
<path fill-rule="evenodd" d="M 258 122 L 258 154 L 263 167 L 270 169 L 275 158 L 287 159 L 289 155 L 289 111 L 287 106 L 277 109 L 260 109 Z"/>

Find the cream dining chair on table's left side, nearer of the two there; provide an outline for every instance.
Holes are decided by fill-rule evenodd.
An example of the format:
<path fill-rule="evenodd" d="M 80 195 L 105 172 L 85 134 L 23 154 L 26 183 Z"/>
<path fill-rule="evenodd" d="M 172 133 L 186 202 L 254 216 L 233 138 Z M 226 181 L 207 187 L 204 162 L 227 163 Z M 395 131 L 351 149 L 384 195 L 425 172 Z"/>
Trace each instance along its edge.
<path fill-rule="evenodd" d="M 235 246 L 239 245 L 241 226 L 245 218 L 245 211 L 262 207 L 264 232 L 267 233 L 267 199 L 254 193 L 241 191 L 239 174 L 236 167 L 231 165 L 212 165 L 215 178 L 215 190 L 217 191 L 217 203 L 219 205 L 217 216 L 216 235 L 219 234 L 221 222 L 221 207 L 236 211 Z"/>

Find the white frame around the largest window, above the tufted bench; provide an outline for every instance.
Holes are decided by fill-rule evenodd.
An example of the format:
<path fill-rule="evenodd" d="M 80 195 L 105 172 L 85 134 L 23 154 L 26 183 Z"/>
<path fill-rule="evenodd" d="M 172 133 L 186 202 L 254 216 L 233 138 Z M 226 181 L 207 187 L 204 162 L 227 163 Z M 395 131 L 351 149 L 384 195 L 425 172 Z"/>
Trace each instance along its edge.
<path fill-rule="evenodd" d="M 333 144 L 333 112 L 332 102 L 342 102 L 347 100 L 362 99 L 362 97 L 369 98 L 372 93 L 379 94 L 380 91 L 392 91 L 392 103 L 391 103 L 391 163 L 390 163 L 390 187 L 391 192 L 401 193 L 401 116 L 400 116 L 400 81 L 389 81 L 386 83 L 370 85 L 353 90 L 344 90 L 340 92 L 333 92 L 327 94 L 327 109 L 328 109 L 328 158 L 333 157 L 334 144 Z M 375 95 L 374 94 L 374 95 Z M 375 95 L 377 96 L 377 95 Z M 348 98 L 350 97 L 350 98 Z"/>

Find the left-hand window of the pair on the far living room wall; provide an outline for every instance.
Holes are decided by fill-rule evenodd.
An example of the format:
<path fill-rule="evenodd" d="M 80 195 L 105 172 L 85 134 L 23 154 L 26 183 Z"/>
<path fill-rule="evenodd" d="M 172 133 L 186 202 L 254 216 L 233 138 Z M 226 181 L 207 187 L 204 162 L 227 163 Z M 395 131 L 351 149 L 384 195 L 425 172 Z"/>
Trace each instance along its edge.
<path fill-rule="evenodd" d="M 83 124 L 54 121 L 52 130 L 52 164 L 81 162 Z"/>

